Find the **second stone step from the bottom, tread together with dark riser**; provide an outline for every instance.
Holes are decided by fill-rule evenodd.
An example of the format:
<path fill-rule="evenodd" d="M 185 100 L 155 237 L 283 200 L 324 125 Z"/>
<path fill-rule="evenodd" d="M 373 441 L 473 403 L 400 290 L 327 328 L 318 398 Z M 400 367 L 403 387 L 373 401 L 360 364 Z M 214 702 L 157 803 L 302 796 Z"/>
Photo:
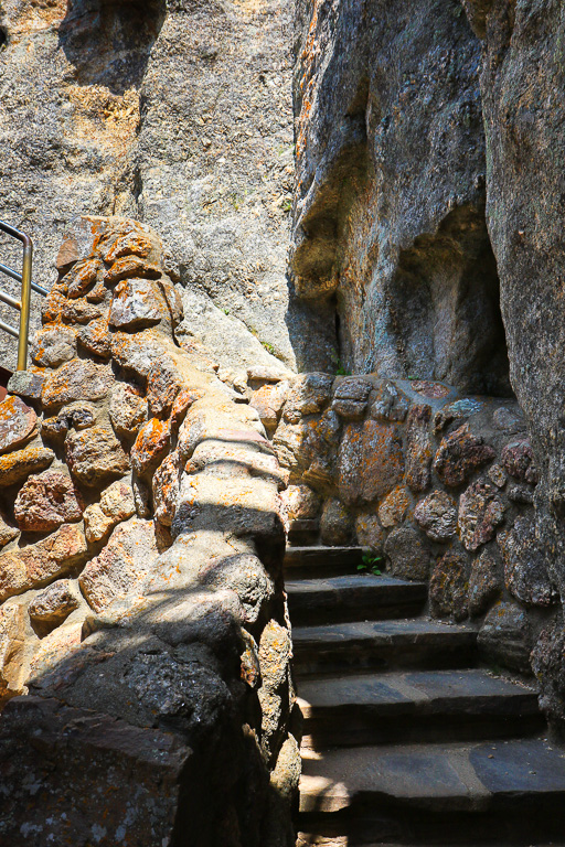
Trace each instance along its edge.
<path fill-rule="evenodd" d="M 305 679 L 302 749 L 543 731 L 537 695 L 480 668 Z"/>

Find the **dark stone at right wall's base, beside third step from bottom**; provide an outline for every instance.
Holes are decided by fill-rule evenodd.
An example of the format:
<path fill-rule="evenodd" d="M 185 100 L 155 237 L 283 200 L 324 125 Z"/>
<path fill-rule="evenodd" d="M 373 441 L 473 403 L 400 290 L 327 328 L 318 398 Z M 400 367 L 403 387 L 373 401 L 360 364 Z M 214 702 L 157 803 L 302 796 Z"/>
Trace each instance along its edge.
<path fill-rule="evenodd" d="M 532 628 L 526 613 L 513 603 L 498 603 L 482 624 L 478 644 L 488 664 L 531 673 Z"/>

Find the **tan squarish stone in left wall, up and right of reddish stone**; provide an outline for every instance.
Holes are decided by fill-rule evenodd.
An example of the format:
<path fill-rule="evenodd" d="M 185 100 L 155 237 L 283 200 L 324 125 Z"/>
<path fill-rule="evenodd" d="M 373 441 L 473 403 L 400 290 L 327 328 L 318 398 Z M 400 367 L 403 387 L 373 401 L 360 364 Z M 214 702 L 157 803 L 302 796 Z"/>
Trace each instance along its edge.
<path fill-rule="evenodd" d="M 65 439 L 65 457 L 73 476 L 94 487 L 129 470 L 129 459 L 110 429 L 90 427 L 70 432 Z"/>

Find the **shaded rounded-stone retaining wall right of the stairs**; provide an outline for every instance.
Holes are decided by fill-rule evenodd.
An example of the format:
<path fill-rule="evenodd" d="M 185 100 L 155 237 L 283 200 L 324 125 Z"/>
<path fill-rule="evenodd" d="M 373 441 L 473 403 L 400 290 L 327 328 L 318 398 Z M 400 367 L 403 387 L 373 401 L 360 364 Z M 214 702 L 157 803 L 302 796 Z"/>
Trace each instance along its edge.
<path fill-rule="evenodd" d="M 250 405 L 289 472 L 295 543 L 360 544 L 369 571 L 429 582 L 434 618 L 476 625 L 491 667 L 531 675 L 533 662 L 545 695 L 539 652 L 561 603 L 535 537 L 539 471 L 515 400 L 311 373 L 255 383 Z"/>

